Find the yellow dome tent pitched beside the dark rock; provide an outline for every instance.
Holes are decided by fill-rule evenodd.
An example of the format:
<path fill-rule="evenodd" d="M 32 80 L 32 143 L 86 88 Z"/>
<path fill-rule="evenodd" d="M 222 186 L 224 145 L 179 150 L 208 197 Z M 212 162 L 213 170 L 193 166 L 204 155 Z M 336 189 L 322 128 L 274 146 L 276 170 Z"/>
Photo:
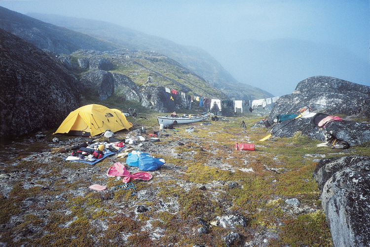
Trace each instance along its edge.
<path fill-rule="evenodd" d="M 102 105 L 86 105 L 71 112 L 55 133 L 94 136 L 110 129 L 116 132 L 129 129 L 132 124 L 120 110 L 109 109 Z"/>

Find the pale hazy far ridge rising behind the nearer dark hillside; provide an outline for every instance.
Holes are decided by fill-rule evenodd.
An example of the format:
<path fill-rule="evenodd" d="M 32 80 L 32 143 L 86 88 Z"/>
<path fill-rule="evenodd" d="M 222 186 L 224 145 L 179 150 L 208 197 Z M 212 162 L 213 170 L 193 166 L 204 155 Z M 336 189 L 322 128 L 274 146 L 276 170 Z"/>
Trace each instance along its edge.
<path fill-rule="evenodd" d="M 30 13 L 30 16 L 57 26 L 91 35 L 122 48 L 150 50 L 164 54 L 184 65 L 230 99 L 259 99 L 273 96 L 258 87 L 237 82 L 210 54 L 198 47 L 180 45 L 107 22 L 59 15 Z"/>

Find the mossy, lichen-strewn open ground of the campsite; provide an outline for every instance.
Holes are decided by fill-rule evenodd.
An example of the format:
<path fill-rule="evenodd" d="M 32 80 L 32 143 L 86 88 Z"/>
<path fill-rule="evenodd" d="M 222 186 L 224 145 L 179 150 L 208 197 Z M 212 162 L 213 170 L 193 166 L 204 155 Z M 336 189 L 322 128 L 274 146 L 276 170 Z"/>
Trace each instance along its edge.
<path fill-rule="evenodd" d="M 105 105 L 125 111 L 128 106 L 118 102 L 111 97 Z M 202 110 L 195 107 L 184 114 Z M 127 118 L 133 129 L 145 126 L 148 135 L 159 129 L 156 116 L 141 108 L 139 117 Z M 250 127 L 261 118 L 239 113 L 218 122 L 205 121 L 210 125 L 177 125 L 177 131 L 165 130 L 168 136 L 161 130 L 161 141 L 149 148 L 144 143 L 141 150 L 166 164 L 151 172 L 151 180 L 134 180 L 138 195 L 129 190 L 113 192 L 122 180 L 106 176 L 110 166 L 125 164 L 125 158 L 111 156 L 96 165 L 62 159 L 87 138 L 57 135 L 56 144 L 52 142 L 56 135 L 51 134 L 55 129 L 50 129 L 43 132 L 44 138 L 33 133 L 3 142 L 0 242 L 19 247 L 222 247 L 224 236 L 236 231 L 241 239 L 235 246 L 253 243 L 259 233 L 275 234 L 268 239 L 271 247 L 332 246 L 320 191 L 312 178 L 318 164 L 315 157 L 369 156 L 369 145 L 339 151 L 318 148 L 319 141 L 304 133 L 259 142 L 268 132 Z M 241 127 L 242 121 L 247 128 Z M 191 133 L 185 132 L 189 126 L 194 127 Z M 119 131 L 115 137 L 128 134 Z M 236 142 L 254 143 L 255 150 L 235 150 Z M 91 184 L 106 185 L 107 190 L 90 190 Z M 300 204 L 287 204 L 290 198 Z M 138 206 L 148 210 L 138 212 Z M 247 225 L 229 229 L 212 224 L 217 216 L 231 214 L 245 216 Z M 202 222 L 207 231 L 199 234 Z"/>

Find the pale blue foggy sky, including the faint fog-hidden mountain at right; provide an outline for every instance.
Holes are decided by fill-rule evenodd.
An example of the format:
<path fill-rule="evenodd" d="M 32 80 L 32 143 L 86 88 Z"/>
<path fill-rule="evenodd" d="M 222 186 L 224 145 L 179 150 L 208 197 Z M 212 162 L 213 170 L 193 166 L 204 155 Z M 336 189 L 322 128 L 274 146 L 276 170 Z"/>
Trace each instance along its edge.
<path fill-rule="evenodd" d="M 370 85 L 369 0 L 0 0 L 0 5 L 22 14 L 108 21 L 201 47 L 239 82 L 274 95 L 292 93 L 311 76 Z"/>

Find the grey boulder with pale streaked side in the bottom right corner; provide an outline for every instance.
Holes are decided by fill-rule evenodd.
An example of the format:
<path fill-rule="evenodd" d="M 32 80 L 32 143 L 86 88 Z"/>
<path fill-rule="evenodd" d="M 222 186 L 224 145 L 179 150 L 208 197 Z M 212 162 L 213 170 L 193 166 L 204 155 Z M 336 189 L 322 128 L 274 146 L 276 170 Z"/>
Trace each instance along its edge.
<path fill-rule="evenodd" d="M 334 247 L 369 247 L 370 157 L 323 159 L 313 177 L 322 190 Z"/>

